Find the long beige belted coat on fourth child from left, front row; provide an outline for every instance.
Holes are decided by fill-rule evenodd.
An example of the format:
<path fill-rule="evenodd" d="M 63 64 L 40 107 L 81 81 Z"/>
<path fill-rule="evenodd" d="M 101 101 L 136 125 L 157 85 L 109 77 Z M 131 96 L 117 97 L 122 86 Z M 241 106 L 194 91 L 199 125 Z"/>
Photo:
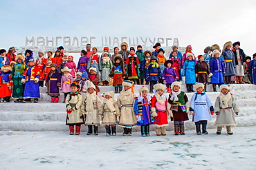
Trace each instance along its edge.
<path fill-rule="evenodd" d="M 120 120 L 118 125 L 121 127 L 132 128 L 136 126 L 137 119 L 134 114 L 134 101 L 136 94 L 131 93 L 131 89 L 122 91 L 118 96 L 118 107 L 120 108 Z"/>

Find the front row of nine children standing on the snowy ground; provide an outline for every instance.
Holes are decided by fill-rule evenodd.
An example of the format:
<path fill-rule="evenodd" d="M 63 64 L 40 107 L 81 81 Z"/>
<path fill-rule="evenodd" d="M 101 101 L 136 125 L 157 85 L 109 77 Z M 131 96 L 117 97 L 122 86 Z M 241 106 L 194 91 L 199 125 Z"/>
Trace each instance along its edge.
<path fill-rule="evenodd" d="M 136 96 L 131 81 L 124 81 L 124 87 L 117 100 L 114 100 L 114 92 L 105 92 L 103 103 L 96 93 L 96 87 L 92 82 L 87 85 L 87 93 L 82 97 L 80 85 L 71 84 L 71 93 L 66 97 L 66 125 L 70 134 L 80 134 L 80 126 L 88 127 L 87 135 L 98 135 L 98 126 L 104 125 L 106 136 L 116 136 L 116 125 L 123 127 L 123 136 L 131 136 L 133 127 L 140 126 L 141 136 L 150 136 L 149 125 L 156 127 L 157 136 L 165 136 L 165 127 L 174 121 L 174 134 L 185 135 L 184 122 L 189 120 L 188 114 L 192 114 L 192 121 L 196 125 L 196 134 L 208 134 L 207 123 L 211 114 L 216 114 L 217 134 L 226 126 L 227 133 L 232 134 L 231 125 L 237 125 L 235 114 L 239 108 L 235 98 L 230 94 L 228 85 L 221 85 L 220 94 L 217 96 L 215 106 L 204 92 L 203 83 L 194 85 L 196 93 L 188 100 L 185 92 L 181 91 L 181 83 L 174 82 L 171 85 L 172 92 L 166 96 L 167 87 L 161 83 L 154 85 L 154 96 L 149 96 L 147 87 L 142 86 Z M 170 119 L 169 119 L 170 118 Z M 202 131 L 201 131 L 202 125 Z M 74 132 L 74 126 L 76 131 Z"/>

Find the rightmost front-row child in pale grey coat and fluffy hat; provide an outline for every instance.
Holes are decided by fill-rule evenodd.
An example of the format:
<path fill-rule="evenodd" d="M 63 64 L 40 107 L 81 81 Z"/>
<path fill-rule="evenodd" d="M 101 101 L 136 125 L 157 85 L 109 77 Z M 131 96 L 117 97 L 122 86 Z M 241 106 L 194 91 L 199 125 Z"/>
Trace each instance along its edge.
<path fill-rule="evenodd" d="M 230 87 L 228 85 L 221 85 L 219 91 L 221 93 L 219 96 L 217 96 L 215 101 L 214 112 L 217 117 L 214 125 L 217 126 L 218 135 L 221 134 L 221 129 L 223 126 L 226 126 L 228 134 L 232 135 L 233 132 L 231 131 L 231 125 L 237 125 L 234 111 L 237 115 L 239 113 L 239 107 L 235 101 L 235 98 L 230 93 Z"/>

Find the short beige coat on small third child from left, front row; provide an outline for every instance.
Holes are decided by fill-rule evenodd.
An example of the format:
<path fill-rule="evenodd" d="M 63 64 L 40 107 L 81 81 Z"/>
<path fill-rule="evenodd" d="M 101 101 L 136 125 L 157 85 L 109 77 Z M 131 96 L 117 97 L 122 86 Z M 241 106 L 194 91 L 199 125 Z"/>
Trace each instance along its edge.
<path fill-rule="evenodd" d="M 115 125 L 118 123 L 116 116 L 120 116 L 118 103 L 116 103 L 113 98 L 110 98 L 109 100 L 105 99 L 100 107 L 98 115 L 102 116 L 103 125 Z"/>

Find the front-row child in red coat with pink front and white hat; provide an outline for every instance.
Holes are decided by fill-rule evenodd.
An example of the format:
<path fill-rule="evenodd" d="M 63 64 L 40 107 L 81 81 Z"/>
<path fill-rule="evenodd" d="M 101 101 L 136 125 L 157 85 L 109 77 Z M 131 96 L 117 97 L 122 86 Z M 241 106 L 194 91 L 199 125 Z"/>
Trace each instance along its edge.
<path fill-rule="evenodd" d="M 165 91 L 166 86 L 163 84 L 154 85 L 154 90 L 156 91 L 155 95 L 151 100 L 151 111 L 152 116 L 154 116 L 154 125 L 156 126 L 156 136 L 165 136 L 166 130 L 165 126 L 168 125 L 168 116 L 167 116 L 167 97 L 163 92 Z"/>

